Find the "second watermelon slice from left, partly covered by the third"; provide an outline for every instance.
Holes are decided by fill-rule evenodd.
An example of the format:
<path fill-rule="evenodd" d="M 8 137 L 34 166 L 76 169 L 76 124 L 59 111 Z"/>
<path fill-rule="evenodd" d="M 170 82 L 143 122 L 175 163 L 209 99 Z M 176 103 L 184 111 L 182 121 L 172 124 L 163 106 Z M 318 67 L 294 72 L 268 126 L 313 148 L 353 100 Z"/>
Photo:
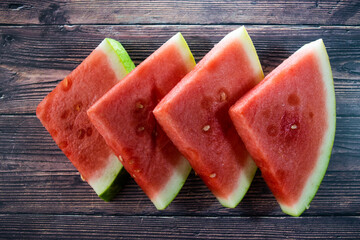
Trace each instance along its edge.
<path fill-rule="evenodd" d="M 157 125 L 152 110 L 194 66 L 178 33 L 88 110 L 94 126 L 157 209 L 175 198 L 191 167 Z"/>

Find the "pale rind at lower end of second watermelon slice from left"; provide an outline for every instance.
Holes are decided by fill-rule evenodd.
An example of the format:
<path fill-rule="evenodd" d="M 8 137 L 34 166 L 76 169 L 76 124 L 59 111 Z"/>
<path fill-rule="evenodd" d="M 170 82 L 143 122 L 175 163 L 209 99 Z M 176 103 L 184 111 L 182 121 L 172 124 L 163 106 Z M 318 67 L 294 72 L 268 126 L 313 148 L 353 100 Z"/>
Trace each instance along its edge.
<path fill-rule="evenodd" d="M 181 155 L 180 163 L 176 166 L 176 168 L 174 168 L 174 172 L 166 183 L 166 186 L 156 195 L 155 198 L 151 199 L 158 210 L 165 209 L 176 197 L 189 176 L 190 171 L 191 166 L 189 162 Z"/>

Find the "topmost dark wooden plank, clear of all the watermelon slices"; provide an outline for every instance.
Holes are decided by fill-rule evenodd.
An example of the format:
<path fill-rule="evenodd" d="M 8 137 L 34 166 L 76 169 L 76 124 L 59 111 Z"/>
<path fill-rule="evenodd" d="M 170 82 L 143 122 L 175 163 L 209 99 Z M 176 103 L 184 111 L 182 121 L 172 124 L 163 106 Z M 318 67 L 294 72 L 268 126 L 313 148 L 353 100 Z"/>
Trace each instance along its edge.
<path fill-rule="evenodd" d="M 353 0 L 5 0 L 0 4 L 0 23 L 359 25 L 359 8 Z"/>

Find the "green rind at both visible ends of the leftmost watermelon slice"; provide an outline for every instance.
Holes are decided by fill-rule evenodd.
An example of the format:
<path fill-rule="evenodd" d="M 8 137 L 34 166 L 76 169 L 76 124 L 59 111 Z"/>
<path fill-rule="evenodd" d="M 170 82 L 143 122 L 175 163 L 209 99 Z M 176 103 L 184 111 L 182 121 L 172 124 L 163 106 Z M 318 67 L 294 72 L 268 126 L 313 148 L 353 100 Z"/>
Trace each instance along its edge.
<path fill-rule="evenodd" d="M 119 81 L 135 68 L 129 54 L 118 41 L 105 38 L 97 49 L 106 54 Z M 88 183 L 101 199 L 110 201 L 122 189 L 127 175 L 120 160 L 111 154 L 102 176 L 95 180 L 89 179 Z"/>

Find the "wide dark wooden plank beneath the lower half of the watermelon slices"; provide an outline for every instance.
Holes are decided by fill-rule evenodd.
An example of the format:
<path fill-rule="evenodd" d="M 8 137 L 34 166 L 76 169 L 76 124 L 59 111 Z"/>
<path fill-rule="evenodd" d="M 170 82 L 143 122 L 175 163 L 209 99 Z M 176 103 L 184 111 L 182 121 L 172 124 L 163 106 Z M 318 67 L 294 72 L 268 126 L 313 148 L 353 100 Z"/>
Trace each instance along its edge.
<path fill-rule="evenodd" d="M 360 121 L 338 118 L 327 175 L 305 215 L 360 213 Z M 191 175 L 163 212 L 129 180 L 112 203 L 100 200 L 66 159 L 34 115 L 0 116 L 0 212 L 122 215 L 283 215 L 260 174 L 235 210 L 220 206 Z M 54 208 L 53 206 L 57 206 Z"/>

